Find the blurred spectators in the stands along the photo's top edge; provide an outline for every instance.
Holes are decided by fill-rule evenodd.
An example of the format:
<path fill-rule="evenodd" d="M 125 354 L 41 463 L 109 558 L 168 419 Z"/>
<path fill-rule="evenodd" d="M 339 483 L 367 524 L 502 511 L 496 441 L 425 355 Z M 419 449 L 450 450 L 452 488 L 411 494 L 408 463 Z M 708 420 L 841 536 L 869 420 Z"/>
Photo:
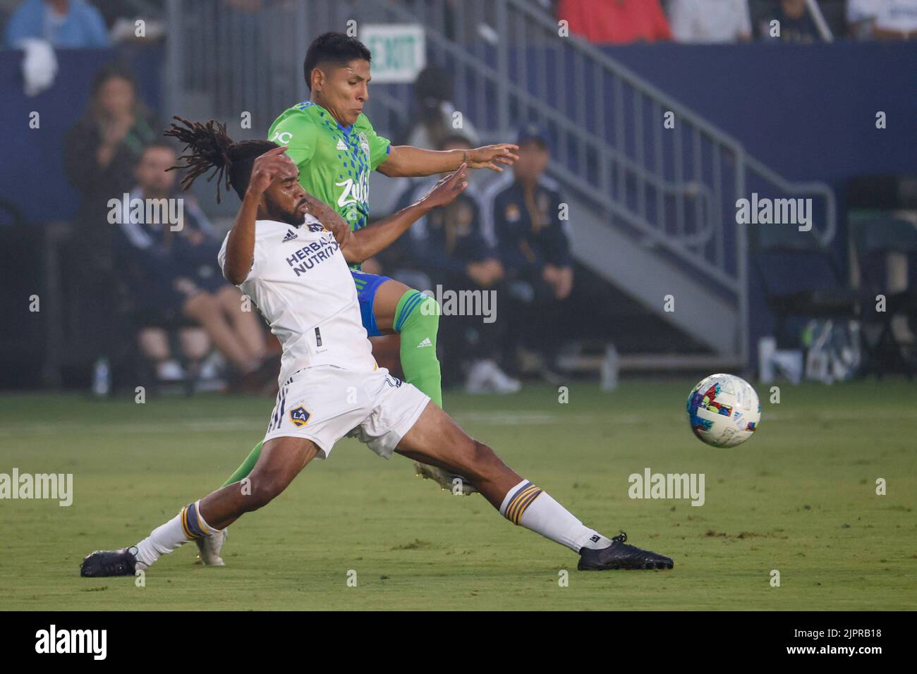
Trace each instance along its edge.
<path fill-rule="evenodd" d="M 636 41 L 725 43 L 744 40 L 818 42 L 917 37 L 917 0 L 533 0 L 568 22 L 571 33 L 598 44 Z M 224 0 L 257 12 L 264 0 Z M 392 0 L 415 5 L 425 0 Z M 446 11 L 460 0 L 445 0 Z M 164 0 L 0 0 L 4 45 L 46 39 L 55 47 L 105 47 L 135 37 L 160 37 Z M 779 22 L 779 34 L 774 22 Z"/>

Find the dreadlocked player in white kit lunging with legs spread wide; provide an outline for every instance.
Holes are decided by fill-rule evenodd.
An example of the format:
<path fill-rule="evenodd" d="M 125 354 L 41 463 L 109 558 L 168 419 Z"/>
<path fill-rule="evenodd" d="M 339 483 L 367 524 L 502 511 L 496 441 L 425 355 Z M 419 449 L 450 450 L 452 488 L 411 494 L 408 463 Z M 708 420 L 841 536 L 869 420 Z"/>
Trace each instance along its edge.
<path fill-rule="evenodd" d="M 220 536 L 241 515 L 270 503 L 312 459 L 327 459 L 344 436 L 385 459 L 398 453 L 467 475 L 515 525 L 579 553 L 578 569 L 672 568 L 670 558 L 627 545 L 623 532 L 607 538 L 583 525 L 424 393 L 377 366 L 341 244 L 309 214 L 309 195 L 286 148 L 233 143 L 212 121 L 194 125 L 186 139 L 191 153 L 182 157 L 192 171 L 185 187 L 213 168 L 242 198 L 219 262 L 282 342 L 281 390 L 245 488 L 236 482 L 189 503 L 135 546 L 91 553 L 81 575 L 134 575 L 188 541 Z M 447 204 L 465 189 L 465 179 L 462 164 L 428 196 Z"/>

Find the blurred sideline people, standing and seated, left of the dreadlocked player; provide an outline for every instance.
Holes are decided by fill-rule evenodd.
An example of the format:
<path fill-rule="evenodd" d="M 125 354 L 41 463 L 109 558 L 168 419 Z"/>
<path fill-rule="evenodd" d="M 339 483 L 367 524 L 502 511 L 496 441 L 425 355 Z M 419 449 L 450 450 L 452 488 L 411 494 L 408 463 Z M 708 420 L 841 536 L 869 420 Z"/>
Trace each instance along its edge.
<path fill-rule="evenodd" d="M 79 269 L 68 293 L 81 306 L 81 337 L 98 354 L 96 378 L 110 371 L 123 332 L 133 331 L 155 381 L 215 379 L 227 370 L 241 386 L 270 370 L 266 336 L 217 267 L 222 236 L 169 171 L 179 149 L 163 128 L 138 99 L 132 74 L 113 64 L 96 73 L 64 138 L 67 180 L 80 193 L 71 245 Z M 178 199 L 180 227 L 166 216 Z M 93 301 L 80 301 L 87 297 Z"/>

